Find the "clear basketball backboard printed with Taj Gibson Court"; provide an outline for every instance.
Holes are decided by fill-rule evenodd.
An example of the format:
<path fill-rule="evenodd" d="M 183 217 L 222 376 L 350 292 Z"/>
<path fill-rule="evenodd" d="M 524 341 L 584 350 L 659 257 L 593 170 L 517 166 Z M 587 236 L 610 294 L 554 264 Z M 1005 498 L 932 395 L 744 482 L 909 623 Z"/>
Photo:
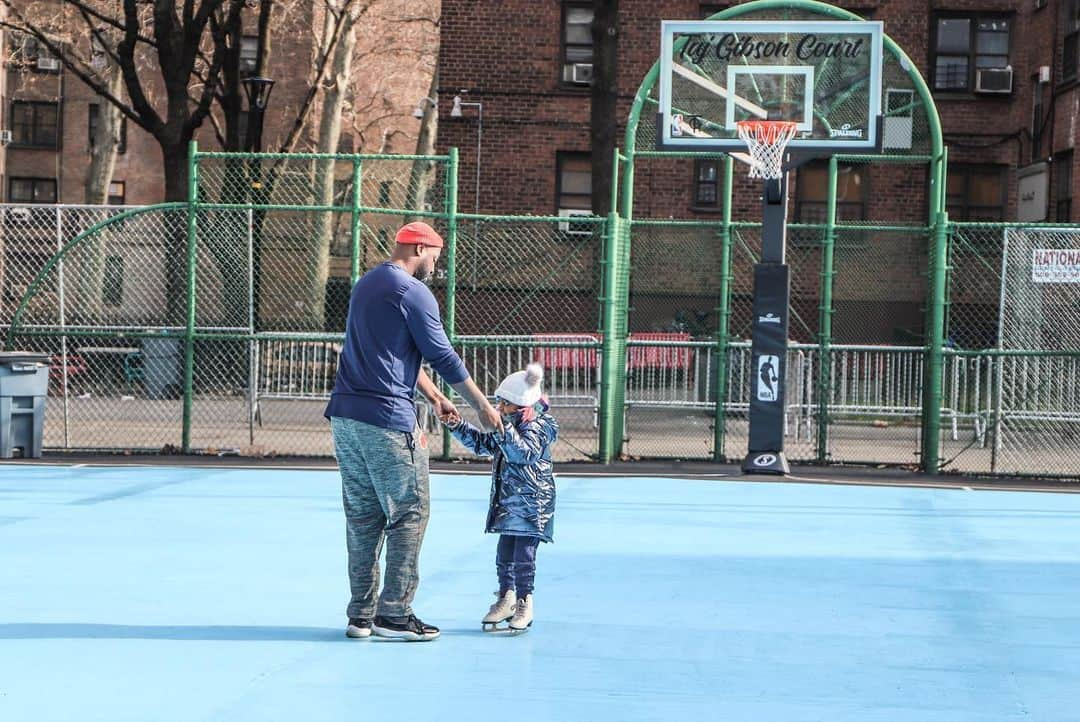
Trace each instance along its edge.
<path fill-rule="evenodd" d="M 798 123 L 795 151 L 879 148 L 881 23 L 665 21 L 657 146 L 739 151 L 743 120 Z"/>

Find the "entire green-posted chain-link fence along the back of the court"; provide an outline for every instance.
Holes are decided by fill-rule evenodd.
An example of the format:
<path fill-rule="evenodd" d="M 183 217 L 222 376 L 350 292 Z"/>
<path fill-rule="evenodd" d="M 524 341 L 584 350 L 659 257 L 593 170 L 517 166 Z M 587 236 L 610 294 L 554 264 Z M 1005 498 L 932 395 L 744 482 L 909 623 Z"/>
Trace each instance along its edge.
<path fill-rule="evenodd" d="M 228 159 L 201 160 L 200 197 L 216 200 L 197 206 L 193 278 L 184 205 L 0 208 L 5 345 L 51 358 L 45 446 L 178 451 L 190 302 L 189 448 L 333 453 L 322 413 L 352 277 L 381 262 L 392 232 L 419 213 L 455 239 L 455 262 L 433 290 L 482 387 L 530 360 L 546 367 L 563 427 L 557 459 L 602 453 L 607 373 L 621 374 L 613 403 L 625 423 L 613 444 L 626 457 L 737 460 L 745 452 L 757 224 L 609 228 L 599 218 L 438 215 L 446 189 L 435 181 L 417 212 L 394 207 L 416 195 L 399 180 L 411 159 L 388 160 L 380 171 L 375 160 L 342 158 L 334 173 L 347 176 L 338 188 L 345 195 L 328 207 L 311 200 L 320 159 L 289 161 L 273 207 L 232 203 L 239 190 L 226 190 L 239 171 Z M 435 165 L 446 177 L 445 162 Z M 251 166 L 239 167 L 249 182 Z M 393 179 L 387 185 L 377 172 Z M 375 204 L 389 197 L 389 207 L 362 205 L 368 194 Z M 791 224 L 785 430 L 793 461 L 919 462 L 931 244 L 926 228 L 904 220 Z M 606 288 L 612 234 L 632 271 Z M 1076 251 L 1078 237 L 1074 228 L 950 226 L 943 468 L 1058 476 L 1080 468 L 1080 285 L 1068 276 L 1072 257 L 1048 255 Z M 624 331 L 604 317 L 609 295 L 625 299 Z M 609 343 L 605 328 L 624 348 Z M 621 360 L 605 365 L 609 349 Z M 419 408 L 441 454 L 437 422 Z"/>

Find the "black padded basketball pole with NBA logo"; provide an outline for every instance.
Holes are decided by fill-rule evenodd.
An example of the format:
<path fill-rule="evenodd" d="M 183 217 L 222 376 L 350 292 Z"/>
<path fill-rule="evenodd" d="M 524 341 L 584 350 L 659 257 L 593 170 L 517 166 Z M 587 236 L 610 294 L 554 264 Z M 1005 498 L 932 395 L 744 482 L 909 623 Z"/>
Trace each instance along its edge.
<path fill-rule="evenodd" d="M 784 457 L 784 379 L 791 269 L 784 262 L 787 236 L 787 172 L 765 180 L 761 194 L 761 260 L 754 265 L 753 358 L 748 453 L 744 474 L 787 474 Z"/>

